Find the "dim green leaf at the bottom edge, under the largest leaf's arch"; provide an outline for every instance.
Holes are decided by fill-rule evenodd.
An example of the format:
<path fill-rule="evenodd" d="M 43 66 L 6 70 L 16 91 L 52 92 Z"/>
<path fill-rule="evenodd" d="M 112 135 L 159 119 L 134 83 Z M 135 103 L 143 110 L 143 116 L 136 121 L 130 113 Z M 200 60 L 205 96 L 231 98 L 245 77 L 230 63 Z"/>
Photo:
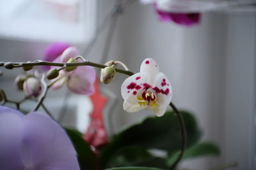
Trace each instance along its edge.
<path fill-rule="evenodd" d="M 124 167 L 124 166 L 149 166 L 158 168 L 167 168 L 166 160 L 154 157 L 145 148 L 140 146 L 131 146 L 119 150 L 108 161 L 106 167 Z"/>

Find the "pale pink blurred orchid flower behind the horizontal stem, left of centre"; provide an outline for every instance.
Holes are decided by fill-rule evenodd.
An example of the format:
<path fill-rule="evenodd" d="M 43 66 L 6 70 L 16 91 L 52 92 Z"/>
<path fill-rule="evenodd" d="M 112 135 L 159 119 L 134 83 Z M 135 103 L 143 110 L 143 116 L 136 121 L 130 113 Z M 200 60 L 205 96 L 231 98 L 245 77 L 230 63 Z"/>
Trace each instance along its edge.
<path fill-rule="evenodd" d="M 68 62 L 69 59 L 74 59 L 77 56 L 77 49 L 71 46 L 53 62 Z M 62 69 L 59 76 L 52 81 L 57 79 L 58 81 L 52 85 L 52 89 L 59 89 L 66 84 L 68 89 L 76 94 L 90 95 L 94 92 L 93 83 L 96 79 L 96 73 L 92 66 L 78 66 L 74 71 L 70 72 Z"/>

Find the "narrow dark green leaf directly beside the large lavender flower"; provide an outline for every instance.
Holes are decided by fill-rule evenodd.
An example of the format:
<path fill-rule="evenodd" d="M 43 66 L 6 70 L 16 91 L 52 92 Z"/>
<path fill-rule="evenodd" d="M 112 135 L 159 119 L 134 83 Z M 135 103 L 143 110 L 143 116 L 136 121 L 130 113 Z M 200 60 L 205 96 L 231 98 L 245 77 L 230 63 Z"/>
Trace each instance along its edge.
<path fill-rule="evenodd" d="M 97 169 L 97 159 L 90 146 L 82 138 L 82 134 L 74 129 L 65 129 L 77 152 L 81 170 Z"/>

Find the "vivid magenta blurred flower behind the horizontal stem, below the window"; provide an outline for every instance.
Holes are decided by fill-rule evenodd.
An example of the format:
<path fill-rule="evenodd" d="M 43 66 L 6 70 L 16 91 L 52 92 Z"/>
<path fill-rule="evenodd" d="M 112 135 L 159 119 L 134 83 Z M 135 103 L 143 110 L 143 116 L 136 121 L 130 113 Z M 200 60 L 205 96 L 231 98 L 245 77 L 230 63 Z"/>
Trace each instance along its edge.
<path fill-rule="evenodd" d="M 50 62 L 55 60 L 68 47 L 70 47 L 70 45 L 68 45 L 68 43 L 57 42 L 57 43 L 50 44 L 49 46 L 46 47 L 46 49 L 44 51 L 43 60 L 50 61 Z M 45 71 L 47 71 L 47 70 L 51 69 L 51 66 L 43 66 L 43 68 L 44 68 Z"/>

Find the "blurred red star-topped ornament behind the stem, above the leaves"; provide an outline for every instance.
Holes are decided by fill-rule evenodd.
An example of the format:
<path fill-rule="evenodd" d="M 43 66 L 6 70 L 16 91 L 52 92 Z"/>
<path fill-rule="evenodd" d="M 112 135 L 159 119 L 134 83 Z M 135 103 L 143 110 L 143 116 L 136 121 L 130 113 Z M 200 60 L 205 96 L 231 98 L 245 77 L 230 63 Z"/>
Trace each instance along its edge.
<path fill-rule="evenodd" d="M 102 146 L 108 144 L 108 136 L 102 117 L 102 110 L 108 99 L 100 94 L 99 82 L 97 80 L 94 83 L 94 88 L 95 92 L 90 96 L 93 103 L 93 111 L 90 114 L 91 122 L 83 138 L 88 144 L 95 148 L 97 152 Z"/>

